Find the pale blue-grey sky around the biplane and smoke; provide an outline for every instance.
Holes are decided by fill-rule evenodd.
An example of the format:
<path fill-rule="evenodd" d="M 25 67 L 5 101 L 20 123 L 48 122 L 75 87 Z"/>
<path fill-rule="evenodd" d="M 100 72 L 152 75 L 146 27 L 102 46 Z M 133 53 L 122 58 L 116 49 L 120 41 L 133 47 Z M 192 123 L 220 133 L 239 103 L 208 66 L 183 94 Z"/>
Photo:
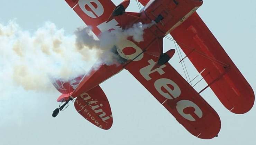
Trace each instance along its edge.
<path fill-rule="evenodd" d="M 129 11 L 138 11 L 131 0 Z M 113 0 L 117 5 L 121 0 Z M 219 40 L 230 58 L 256 91 L 256 1 L 204 0 L 198 13 Z M 0 23 L 16 22 L 30 32 L 46 21 L 72 35 L 82 20 L 64 0 L 2 0 Z M 174 48 L 165 39 L 164 51 Z M 184 75 L 177 54 L 170 61 Z M 196 76 L 189 60 L 185 61 L 190 76 Z M 9 76 L 6 76 L 9 77 Z M 221 118 L 218 138 L 203 140 L 191 135 L 128 71 L 123 70 L 100 85 L 109 99 L 113 114 L 110 130 L 95 127 L 70 106 L 56 118 L 52 111 L 60 95 L 54 92 L 25 91 L 0 84 L 0 145 L 255 145 L 256 108 L 243 115 L 229 112 L 212 93 L 201 96 Z M 200 90 L 204 84 L 195 89 Z"/>

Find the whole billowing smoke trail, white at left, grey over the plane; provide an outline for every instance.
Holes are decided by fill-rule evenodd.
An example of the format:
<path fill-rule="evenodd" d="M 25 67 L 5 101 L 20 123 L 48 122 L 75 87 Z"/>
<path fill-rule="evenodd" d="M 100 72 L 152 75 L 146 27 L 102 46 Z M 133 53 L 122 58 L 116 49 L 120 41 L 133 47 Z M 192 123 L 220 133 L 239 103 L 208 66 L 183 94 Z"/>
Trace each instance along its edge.
<path fill-rule="evenodd" d="M 0 24 L 0 81 L 26 90 L 47 90 L 51 86 L 49 76 L 75 78 L 86 74 L 97 60 L 97 64 L 112 65 L 117 56 L 111 49 L 130 36 L 143 41 L 144 29 L 152 25 L 137 23 L 129 29 L 107 31 L 99 40 L 90 27 L 78 28 L 75 35 L 67 36 L 51 22 L 33 33 L 14 21 Z"/>

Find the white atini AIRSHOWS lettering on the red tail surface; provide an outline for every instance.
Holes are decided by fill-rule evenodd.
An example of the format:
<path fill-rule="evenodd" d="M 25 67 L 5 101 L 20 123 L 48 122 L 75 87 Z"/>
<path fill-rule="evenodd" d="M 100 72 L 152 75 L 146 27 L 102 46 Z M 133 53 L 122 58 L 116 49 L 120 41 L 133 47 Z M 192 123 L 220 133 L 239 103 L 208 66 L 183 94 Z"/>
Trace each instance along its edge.
<path fill-rule="evenodd" d="M 75 103 L 81 108 L 77 112 L 83 112 L 82 116 L 85 117 L 85 119 L 91 120 L 92 123 L 102 128 L 102 125 L 97 119 L 101 119 L 103 122 L 108 123 L 107 120 L 112 118 L 111 114 L 107 115 L 106 112 L 104 112 L 101 108 L 103 107 L 103 104 L 98 104 L 98 100 L 92 99 L 92 97 L 88 93 L 83 93 L 80 95 L 80 97 L 82 98 L 83 102 L 80 102 L 81 100 L 75 101 Z M 94 117 L 95 115 L 98 117 Z"/>

